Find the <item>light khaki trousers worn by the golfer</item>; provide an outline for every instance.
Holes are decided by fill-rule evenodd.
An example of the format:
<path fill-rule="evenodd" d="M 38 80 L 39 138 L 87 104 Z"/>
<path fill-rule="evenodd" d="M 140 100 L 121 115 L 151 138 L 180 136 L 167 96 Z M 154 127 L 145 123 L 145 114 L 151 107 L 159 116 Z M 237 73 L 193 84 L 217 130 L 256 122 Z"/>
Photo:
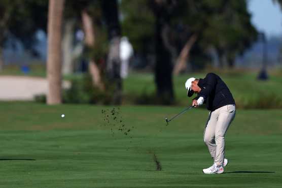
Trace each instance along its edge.
<path fill-rule="evenodd" d="M 225 134 L 236 114 L 235 105 L 226 105 L 209 112 L 205 125 L 204 143 L 215 164 L 223 166 L 225 151 Z"/>

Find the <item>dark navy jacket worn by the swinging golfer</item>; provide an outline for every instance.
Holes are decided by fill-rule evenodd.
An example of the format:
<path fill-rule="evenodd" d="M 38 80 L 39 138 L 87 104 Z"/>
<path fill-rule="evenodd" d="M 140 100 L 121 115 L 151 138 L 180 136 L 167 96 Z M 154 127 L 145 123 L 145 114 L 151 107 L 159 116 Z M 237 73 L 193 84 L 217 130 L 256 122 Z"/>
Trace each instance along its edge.
<path fill-rule="evenodd" d="M 235 105 L 229 88 L 218 75 L 208 73 L 205 78 L 199 79 L 198 86 L 201 91 L 195 99 L 203 97 L 208 110 L 214 111 L 225 105 Z"/>

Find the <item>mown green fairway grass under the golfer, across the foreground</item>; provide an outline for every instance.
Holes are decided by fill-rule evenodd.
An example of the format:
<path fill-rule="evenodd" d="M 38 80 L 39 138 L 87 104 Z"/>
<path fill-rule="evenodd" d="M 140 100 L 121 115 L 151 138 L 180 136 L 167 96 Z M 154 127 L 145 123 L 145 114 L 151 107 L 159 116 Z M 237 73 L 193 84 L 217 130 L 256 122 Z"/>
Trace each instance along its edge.
<path fill-rule="evenodd" d="M 225 173 L 207 175 L 206 110 L 166 126 L 164 118 L 184 107 L 122 106 L 112 115 L 113 108 L 1 102 L 0 187 L 282 186 L 280 109 L 237 110 Z"/>

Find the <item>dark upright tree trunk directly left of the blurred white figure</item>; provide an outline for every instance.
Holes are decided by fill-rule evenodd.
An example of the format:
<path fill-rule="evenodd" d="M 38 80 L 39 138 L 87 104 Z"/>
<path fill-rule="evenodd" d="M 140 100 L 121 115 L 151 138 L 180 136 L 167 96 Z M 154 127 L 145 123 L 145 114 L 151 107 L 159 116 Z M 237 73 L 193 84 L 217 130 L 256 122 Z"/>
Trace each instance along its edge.
<path fill-rule="evenodd" d="M 112 84 L 112 103 L 120 105 L 122 102 L 122 79 L 120 74 L 120 36 L 121 28 L 119 23 L 117 0 L 101 1 L 103 15 L 108 27 L 108 36 L 110 39 L 109 54 L 107 59 L 107 78 Z"/>

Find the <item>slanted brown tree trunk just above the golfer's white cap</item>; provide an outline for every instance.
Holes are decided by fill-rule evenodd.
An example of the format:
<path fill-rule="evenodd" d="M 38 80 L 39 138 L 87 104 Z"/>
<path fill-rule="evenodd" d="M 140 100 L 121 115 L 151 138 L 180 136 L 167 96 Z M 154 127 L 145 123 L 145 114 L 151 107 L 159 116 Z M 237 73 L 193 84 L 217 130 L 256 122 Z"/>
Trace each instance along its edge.
<path fill-rule="evenodd" d="M 174 66 L 173 74 L 179 75 L 179 73 L 187 68 L 187 59 L 189 57 L 190 50 L 193 44 L 196 42 L 198 36 L 196 34 L 192 35 L 187 41 L 185 46 L 182 48 L 179 57 L 177 58 L 177 63 Z"/>

